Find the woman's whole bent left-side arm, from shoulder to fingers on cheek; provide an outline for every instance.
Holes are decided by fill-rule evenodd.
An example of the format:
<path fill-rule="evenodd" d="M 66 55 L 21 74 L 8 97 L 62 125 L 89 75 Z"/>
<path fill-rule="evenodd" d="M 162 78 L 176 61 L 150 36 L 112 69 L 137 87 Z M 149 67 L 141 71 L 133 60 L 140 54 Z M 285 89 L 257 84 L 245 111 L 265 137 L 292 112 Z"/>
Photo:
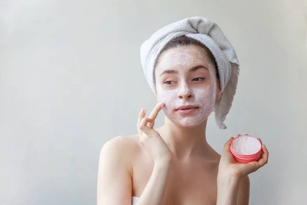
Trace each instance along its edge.
<path fill-rule="evenodd" d="M 140 144 L 155 163 L 149 181 L 137 204 L 160 205 L 163 201 L 167 177 L 173 155 L 160 134 L 153 129 L 155 119 L 163 105 L 158 104 L 149 117 L 141 110 L 137 124 Z M 130 205 L 132 193 L 133 146 L 125 137 L 116 137 L 102 148 L 99 159 L 97 204 Z M 128 150 L 130 148 L 130 150 Z"/>

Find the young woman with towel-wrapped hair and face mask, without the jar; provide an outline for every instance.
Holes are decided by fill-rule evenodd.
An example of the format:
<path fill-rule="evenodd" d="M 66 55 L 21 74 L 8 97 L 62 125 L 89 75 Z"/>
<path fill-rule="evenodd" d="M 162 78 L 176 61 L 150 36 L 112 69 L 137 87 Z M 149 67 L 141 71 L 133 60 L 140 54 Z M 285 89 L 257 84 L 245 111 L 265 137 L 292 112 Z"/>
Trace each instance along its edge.
<path fill-rule="evenodd" d="M 212 111 L 225 129 L 238 75 L 235 52 L 221 36 L 216 24 L 192 17 L 163 27 L 142 45 L 142 66 L 158 104 L 148 114 L 141 109 L 137 135 L 103 146 L 98 205 L 249 203 L 248 174 L 268 162 L 265 145 L 258 161 L 239 163 L 230 152 L 233 137 L 222 156 L 206 140 Z M 162 109 L 165 124 L 154 128 Z"/>

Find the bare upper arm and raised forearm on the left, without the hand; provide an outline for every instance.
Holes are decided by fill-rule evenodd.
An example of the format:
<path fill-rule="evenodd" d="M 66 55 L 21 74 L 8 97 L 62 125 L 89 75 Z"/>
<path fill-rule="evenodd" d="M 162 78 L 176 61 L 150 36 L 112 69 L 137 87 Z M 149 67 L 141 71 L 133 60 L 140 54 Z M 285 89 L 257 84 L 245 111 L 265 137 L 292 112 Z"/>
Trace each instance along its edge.
<path fill-rule="evenodd" d="M 116 137 L 106 142 L 99 157 L 97 205 L 131 205 L 133 147 L 127 137 Z M 155 162 L 151 176 L 137 205 L 160 205 L 163 200 L 170 158 Z"/>

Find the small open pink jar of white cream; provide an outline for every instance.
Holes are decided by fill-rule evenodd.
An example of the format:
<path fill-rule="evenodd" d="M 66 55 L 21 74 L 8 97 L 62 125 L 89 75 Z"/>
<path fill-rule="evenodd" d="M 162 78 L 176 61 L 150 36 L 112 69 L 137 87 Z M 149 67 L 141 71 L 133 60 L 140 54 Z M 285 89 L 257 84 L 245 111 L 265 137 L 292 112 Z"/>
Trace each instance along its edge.
<path fill-rule="evenodd" d="M 230 152 L 241 163 L 257 161 L 262 153 L 261 142 L 250 135 L 238 135 L 230 145 Z"/>

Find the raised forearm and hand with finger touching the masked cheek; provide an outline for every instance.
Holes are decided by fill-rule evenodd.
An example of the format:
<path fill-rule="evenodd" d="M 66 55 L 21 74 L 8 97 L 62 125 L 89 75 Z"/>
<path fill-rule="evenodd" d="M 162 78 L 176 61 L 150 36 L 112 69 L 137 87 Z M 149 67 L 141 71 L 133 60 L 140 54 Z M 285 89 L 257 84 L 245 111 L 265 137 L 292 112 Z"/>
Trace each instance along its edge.
<path fill-rule="evenodd" d="M 142 109 L 139 114 L 137 128 L 140 144 L 152 157 L 155 165 L 137 205 L 160 205 L 163 201 L 173 154 L 159 132 L 153 129 L 155 119 L 162 108 L 163 104 L 158 103 L 149 114 L 149 117 L 145 117 L 145 109 Z"/>

